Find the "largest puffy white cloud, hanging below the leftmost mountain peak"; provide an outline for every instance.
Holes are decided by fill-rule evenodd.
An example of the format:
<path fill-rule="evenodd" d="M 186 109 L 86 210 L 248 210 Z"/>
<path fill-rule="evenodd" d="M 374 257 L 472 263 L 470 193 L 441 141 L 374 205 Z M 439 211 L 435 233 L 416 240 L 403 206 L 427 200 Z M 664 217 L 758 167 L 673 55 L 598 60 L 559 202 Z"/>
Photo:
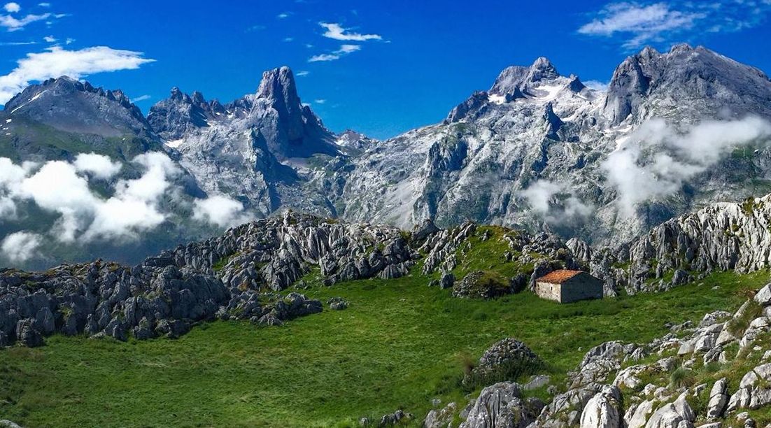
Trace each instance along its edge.
<path fill-rule="evenodd" d="M 12 199 L 30 200 L 59 214 L 52 230 L 59 241 L 136 238 L 137 232 L 165 220 L 158 204 L 179 169 L 163 153 L 144 153 L 132 161 L 143 167 L 143 174 L 133 180 L 119 180 L 113 196 L 103 199 L 93 193 L 88 177 L 82 174 L 87 171 L 92 177 L 112 177 L 120 164 L 100 155 L 79 155 L 74 163 L 49 161 L 39 170 L 29 163 L 18 166 L 0 158 L 2 215 L 15 215 L 16 207 L 9 204 Z"/>

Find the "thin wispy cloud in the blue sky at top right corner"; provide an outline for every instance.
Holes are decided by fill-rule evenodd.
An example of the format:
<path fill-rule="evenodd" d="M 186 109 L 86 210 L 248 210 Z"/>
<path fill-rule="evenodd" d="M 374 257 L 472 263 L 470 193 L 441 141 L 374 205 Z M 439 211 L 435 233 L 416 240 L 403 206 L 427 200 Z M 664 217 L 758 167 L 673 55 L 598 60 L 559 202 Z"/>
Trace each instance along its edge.
<path fill-rule="evenodd" d="M 771 12 L 769 0 L 726 2 L 612 2 L 594 13 L 579 34 L 620 41 L 624 49 L 671 43 L 700 32 L 736 32 L 759 25 Z"/>

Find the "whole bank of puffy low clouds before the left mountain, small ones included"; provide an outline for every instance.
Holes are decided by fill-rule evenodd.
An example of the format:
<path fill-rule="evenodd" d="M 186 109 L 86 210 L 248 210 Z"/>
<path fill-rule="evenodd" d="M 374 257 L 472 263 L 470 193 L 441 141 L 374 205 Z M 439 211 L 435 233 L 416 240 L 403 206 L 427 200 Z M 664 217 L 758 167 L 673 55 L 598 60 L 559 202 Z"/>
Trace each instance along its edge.
<path fill-rule="evenodd" d="M 103 197 L 90 187 L 92 180 L 113 180 L 123 165 L 96 153 L 84 153 L 72 162 L 53 160 L 42 165 L 17 165 L 0 157 L 0 222 L 19 217 L 18 203 L 31 201 L 44 211 L 58 214 L 48 239 L 69 244 L 97 240 L 131 241 L 158 227 L 170 217 L 162 202 L 176 200 L 180 188 L 173 179 L 181 170 L 164 153 L 143 153 L 131 160 L 140 177 L 118 179 L 112 195 Z M 195 200 L 193 217 L 218 227 L 251 220 L 244 206 L 224 196 Z M 28 231 L 10 234 L 2 241 L 9 261 L 25 261 L 38 254 L 41 235 Z"/>

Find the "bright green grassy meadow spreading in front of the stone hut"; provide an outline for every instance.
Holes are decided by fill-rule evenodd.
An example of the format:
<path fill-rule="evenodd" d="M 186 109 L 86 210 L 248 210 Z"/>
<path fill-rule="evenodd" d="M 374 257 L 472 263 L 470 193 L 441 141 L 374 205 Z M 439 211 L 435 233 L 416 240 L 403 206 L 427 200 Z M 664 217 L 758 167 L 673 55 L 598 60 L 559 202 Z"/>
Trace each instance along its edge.
<path fill-rule="evenodd" d="M 399 408 L 422 419 L 435 397 L 466 403 L 463 395 L 474 391 L 460 385 L 464 362 L 503 337 L 530 345 L 563 386 L 564 372 L 589 347 L 648 341 L 665 333 L 665 322 L 736 308 L 767 278 L 722 273 L 663 294 L 571 305 L 529 292 L 488 302 L 451 298 L 418 274 L 315 285 L 305 293 L 342 296 L 350 307 L 283 327 L 213 322 L 177 340 L 54 336 L 42 348 L 0 350 L 0 419 L 25 426 L 347 426 Z"/>

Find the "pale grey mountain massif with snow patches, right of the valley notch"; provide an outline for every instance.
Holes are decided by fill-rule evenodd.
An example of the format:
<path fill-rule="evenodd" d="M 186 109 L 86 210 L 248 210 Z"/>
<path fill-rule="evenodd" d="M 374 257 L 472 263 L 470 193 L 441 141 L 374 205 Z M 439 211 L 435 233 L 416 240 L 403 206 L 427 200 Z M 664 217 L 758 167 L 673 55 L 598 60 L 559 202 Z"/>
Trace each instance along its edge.
<path fill-rule="evenodd" d="M 339 198 L 360 221 L 470 218 L 625 241 L 692 207 L 766 194 L 769 119 L 763 72 L 702 47 L 644 49 L 608 93 L 539 58 L 443 123 L 352 160 Z"/>

